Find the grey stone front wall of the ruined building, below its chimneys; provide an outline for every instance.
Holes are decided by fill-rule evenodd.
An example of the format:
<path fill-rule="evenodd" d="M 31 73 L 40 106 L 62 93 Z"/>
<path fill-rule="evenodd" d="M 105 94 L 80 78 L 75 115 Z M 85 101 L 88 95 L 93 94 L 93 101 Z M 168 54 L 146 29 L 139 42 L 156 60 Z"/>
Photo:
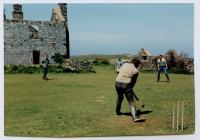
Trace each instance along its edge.
<path fill-rule="evenodd" d="M 35 33 L 38 36 L 33 37 Z M 41 64 L 46 54 L 54 64 L 51 56 L 56 52 L 66 54 L 64 22 L 4 20 L 5 64 L 29 65 L 36 62 L 34 59 L 39 59 Z"/>

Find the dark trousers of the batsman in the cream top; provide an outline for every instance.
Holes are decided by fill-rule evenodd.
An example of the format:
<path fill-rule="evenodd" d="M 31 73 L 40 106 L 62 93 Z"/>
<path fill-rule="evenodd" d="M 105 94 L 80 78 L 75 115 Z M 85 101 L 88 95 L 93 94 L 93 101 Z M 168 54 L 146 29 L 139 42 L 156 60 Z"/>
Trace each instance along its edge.
<path fill-rule="evenodd" d="M 132 80 L 131 83 L 122 83 L 122 82 L 115 82 L 115 89 L 117 91 L 117 103 L 116 103 L 116 113 L 120 113 L 121 110 L 121 104 L 125 97 L 129 104 L 132 104 L 134 102 L 134 92 L 133 87 L 135 86 L 136 80 L 137 80 L 138 74 L 136 74 Z"/>

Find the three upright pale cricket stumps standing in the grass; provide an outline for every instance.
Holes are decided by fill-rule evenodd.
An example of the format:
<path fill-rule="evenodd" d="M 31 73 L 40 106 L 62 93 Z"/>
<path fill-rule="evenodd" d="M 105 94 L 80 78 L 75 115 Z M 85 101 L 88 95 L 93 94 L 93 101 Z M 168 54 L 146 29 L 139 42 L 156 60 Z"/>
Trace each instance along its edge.
<path fill-rule="evenodd" d="M 181 107 L 181 108 L 180 108 Z M 179 116 L 181 114 L 181 116 Z M 176 118 L 176 120 L 175 120 Z M 181 120 L 181 126 L 179 127 L 179 122 Z M 175 121 L 176 121 L 176 130 L 178 131 L 180 128 L 183 130 L 184 125 L 184 101 L 173 102 L 172 108 L 172 129 L 175 129 Z"/>

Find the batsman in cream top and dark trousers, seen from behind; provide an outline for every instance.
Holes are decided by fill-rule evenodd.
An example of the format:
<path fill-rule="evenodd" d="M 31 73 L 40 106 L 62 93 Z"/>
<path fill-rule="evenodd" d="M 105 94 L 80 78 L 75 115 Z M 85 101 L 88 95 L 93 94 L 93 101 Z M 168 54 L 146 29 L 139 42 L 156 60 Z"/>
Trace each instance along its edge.
<path fill-rule="evenodd" d="M 116 114 L 122 115 L 121 112 L 121 104 L 124 99 L 124 95 L 128 101 L 130 106 L 131 114 L 133 117 L 134 122 L 144 121 L 144 118 L 139 118 L 136 110 L 136 105 L 134 101 L 134 92 L 133 88 L 136 84 L 138 78 L 138 70 L 137 67 L 140 64 L 140 60 L 132 59 L 130 62 L 125 63 L 121 71 L 119 72 L 116 81 L 115 81 L 115 88 L 117 91 L 117 103 L 116 103 Z"/>

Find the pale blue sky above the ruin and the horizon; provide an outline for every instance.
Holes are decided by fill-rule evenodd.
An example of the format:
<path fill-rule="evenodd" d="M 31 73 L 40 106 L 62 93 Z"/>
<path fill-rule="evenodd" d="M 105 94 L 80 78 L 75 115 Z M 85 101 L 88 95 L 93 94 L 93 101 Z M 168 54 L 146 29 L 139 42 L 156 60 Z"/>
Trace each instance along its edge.
<path fill-rule="evenodd" d="M 23 4 L 24 19 L 50 20 L 56 4 Z M 191 3 L 68 4 L 70 54 L 153 55 L 169 49 L 194 55 L 194 5 Z M 12 5 L 4 5 L 11 18 Z"/>

